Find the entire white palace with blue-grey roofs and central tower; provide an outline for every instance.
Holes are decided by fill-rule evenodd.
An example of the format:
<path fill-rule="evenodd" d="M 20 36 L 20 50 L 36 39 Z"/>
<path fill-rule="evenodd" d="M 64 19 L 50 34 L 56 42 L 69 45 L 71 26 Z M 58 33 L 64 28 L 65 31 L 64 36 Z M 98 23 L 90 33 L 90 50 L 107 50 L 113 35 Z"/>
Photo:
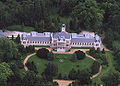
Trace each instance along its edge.
<path fill-rule="evenodd" d="M 101 47 L 101 39 L 96 34 L 89 33 L 68 33 L 66 32 L 65 24 L 62 25 L 62 31 L 51 32 L 31 32 L 30 34 L 23 33 L 21 35 L 21 44 L 24 46 L 39 45 L 50 46 L 57 52 L 65 52 L 71 47 Z"/>

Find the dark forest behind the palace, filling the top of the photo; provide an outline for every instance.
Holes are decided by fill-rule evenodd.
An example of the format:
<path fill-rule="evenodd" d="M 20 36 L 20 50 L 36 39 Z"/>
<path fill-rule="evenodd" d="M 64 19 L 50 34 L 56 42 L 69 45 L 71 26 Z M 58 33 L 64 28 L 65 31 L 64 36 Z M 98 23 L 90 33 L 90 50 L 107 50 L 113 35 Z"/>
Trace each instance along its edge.
<path fill-rule="evenodd" d="M 29 26 L 37 32 L 57 32 L 65 23 L 68 32 L 87 30 L 105 37 L 103 42 L 110 49 L 119 44 L 119 18 L 119 0 L 0 1 L 0 28 L 3 30 L 20 25 L 21 31 Z"/>

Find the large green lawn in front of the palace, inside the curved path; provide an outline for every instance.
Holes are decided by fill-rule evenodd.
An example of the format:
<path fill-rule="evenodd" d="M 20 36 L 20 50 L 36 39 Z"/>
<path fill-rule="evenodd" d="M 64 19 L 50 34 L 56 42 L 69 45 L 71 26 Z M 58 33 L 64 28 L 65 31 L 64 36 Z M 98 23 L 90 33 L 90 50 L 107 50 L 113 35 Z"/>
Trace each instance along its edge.
<path fill-rule="evenodd" d="M 55 60 L 52 62 L 58 66 L 59 73 L 68 74 L 72 68 L 76 70 L 90 68 L 92 63 L 94 62 L 92 59 L 88 57 L 86 57 L 83 60 L 78 60 L 77 62 L 71 62 L 70 58 L 71 58 L 70 54 L 55 54 Z M 64 59 L 64 62 L 61 63 L 59 61 L 60 59 Z M 43 72 L 43 70 L 45 69 L 45 64 L 49 62 L 47 60 L 38 58 L 36 55 L 32 56 L 28 61 L 34 61 L 39 73 Z M 79 67 L 77 67 L 77 65 L 79 65 Z"/>

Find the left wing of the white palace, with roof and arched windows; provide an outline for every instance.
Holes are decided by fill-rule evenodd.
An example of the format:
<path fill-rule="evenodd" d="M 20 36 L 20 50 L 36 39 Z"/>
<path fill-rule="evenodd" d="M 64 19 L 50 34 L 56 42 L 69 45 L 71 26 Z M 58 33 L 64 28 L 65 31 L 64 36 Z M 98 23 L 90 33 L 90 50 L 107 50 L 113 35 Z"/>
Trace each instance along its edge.
<path fill-rule="evenodd" d="M 50 46 L 51 43 L 51 33 L 44 32 L 44 33 L 37 33 L 31 32 L 29 35 L 26 33 L 21 35 L 21 44 L 24 46 L 29 45 L 39 45 L 39 46 Z"/>

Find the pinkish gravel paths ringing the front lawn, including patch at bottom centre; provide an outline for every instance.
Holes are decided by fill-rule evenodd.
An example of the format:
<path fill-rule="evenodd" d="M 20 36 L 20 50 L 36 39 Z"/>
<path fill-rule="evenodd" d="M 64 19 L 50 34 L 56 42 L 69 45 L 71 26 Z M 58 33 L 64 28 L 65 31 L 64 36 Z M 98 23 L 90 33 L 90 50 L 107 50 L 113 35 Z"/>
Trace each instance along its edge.
<path fill-rule="evenodd" d="M 35 49 L 38 50 L 38 49 L 40 49 L 40 47 L 35 47 Z M 51 51 L 50 48 L 47 48 L 47 49 L 48 49 L 49 51 Z M 87 57 L 93 59 L 94 61 L 97 61 L 95 58 L 93 58 L 92 56 L 90 56 L 90 55 L 88 55 L 88 54 L 86 53 L 87 51 L 89 51 L 89 49 L 71 49 L 70 52 L 55 52 L 55 51 L 53 51 L 53 53 L 73 54 L 75 51 L 78 51 L 78 50 L 83 51 L 83 52 L 86 54 Z M 28 55 L 28 56 L 25 58 L 25 60 L 24 60 L 24 68 L 25 68 L 26 71 L 28 71 L 28 68 L 27 68 L 27 66 L 25 65 L 25 64 L 27 63 L 27 60 L 28 60 L 31 56 L 35 55 L 35 54 L 36 54 L 36 53 L 32 53 L 32 54 Z M 92 77 L 90 77 L 90 79 L 93 79 L 93 78 L 97 77 L 97 76 L 101 73 L 101 71 L 102 71 L 102 65 L 100 65 L 99 72 L 98 72 L 97 74 L 93 75 Z M 54 81 L 57 81 L 60 86 L 67 86 L 68 84 L 70 84 L 70 83 L 73 82 L 73 81 L 66 81 L 66 80 L 54 80 Z M 63 82 L 64 82 L 64 84 L 66 83 L 67 85 L 63 85 Z"/>

